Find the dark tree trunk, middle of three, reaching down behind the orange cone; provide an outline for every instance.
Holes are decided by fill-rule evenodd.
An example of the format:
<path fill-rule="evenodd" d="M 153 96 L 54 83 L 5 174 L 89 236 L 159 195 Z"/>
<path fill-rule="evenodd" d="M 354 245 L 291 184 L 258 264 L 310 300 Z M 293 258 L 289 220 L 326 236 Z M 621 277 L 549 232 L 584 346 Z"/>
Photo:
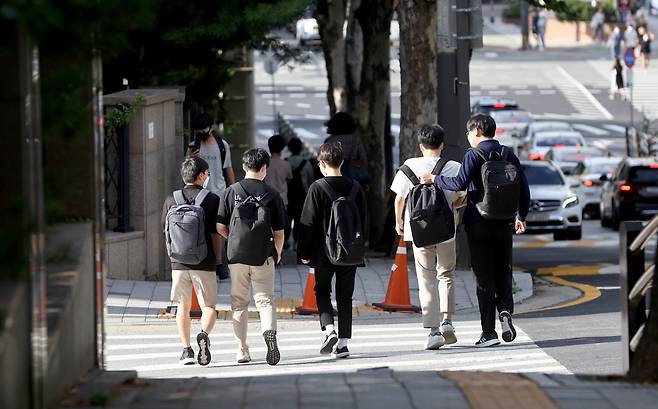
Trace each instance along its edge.
<path fill-rule="evenodd" d="M 390 26 L 392 0 L 362 0 L 355 12 L 363 35 L 364 52 L 360 64 L 360 81 L 356 119 L 358 134 L 368 155 L 368 207 L 370 239 L 376 243 L 383 233 L 387 186 L 384 178 L 384 138 L 386 107 L 390 94 Z M 348 71 L 353 67 L 348 67 Z"/>

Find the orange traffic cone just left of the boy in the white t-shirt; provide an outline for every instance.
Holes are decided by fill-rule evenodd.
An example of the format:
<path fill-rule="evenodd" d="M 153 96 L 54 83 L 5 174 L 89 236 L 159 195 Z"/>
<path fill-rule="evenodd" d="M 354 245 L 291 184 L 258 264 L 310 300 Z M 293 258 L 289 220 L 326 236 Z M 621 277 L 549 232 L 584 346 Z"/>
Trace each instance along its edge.
<path fill-rule="evenodd" d="M 407 269 L 407 244 L 400 237 L 395 262 L 391 267 L 391 278 L 383 303 L 373 303 L 373 306 L 390 312 L 420 312 L 420 308 L 411 304 L 409 297 L 409 271 Z"/>

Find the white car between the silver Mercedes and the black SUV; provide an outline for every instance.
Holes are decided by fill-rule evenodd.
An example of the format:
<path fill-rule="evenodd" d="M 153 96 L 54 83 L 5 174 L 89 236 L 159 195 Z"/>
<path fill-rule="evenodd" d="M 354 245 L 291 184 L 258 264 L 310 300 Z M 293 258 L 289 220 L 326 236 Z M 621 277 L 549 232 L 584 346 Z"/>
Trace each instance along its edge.
<path fill-rule="evenodd" d="M 620 157 L 586 158 L 578 163 L 573 172 L 575 183 L 572 187 L 578 194 L 583 214 L 600 216 L 601 176 L 612 176 L 621 160 Z"/>

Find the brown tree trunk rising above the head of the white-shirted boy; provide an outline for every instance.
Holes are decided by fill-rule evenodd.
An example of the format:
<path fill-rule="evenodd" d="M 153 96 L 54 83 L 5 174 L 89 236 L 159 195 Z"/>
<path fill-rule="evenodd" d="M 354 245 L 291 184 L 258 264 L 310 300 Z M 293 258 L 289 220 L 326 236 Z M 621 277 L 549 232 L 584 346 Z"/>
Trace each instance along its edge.
<path fill-rule="evenodd" d="M 400 0 L 400 163 L 418 156 L 414 129 L 436 122 L 437 15 L 435 0 Z"/>

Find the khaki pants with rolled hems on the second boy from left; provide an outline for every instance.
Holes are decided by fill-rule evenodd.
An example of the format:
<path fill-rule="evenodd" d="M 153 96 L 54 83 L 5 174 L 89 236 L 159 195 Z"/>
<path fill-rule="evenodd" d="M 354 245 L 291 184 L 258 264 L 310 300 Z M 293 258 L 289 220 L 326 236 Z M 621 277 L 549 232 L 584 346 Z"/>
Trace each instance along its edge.
<path fill-rule="evenodd" d="M 246 345 L 249 307 L 249 289 L 260 315 L 261 333 L 276 331 L 276 307 L 274 306 L 274 259 L 268 258 L 262 266 L 229 264 L 231 271 L 231 310 L 235 338 Z"/>

